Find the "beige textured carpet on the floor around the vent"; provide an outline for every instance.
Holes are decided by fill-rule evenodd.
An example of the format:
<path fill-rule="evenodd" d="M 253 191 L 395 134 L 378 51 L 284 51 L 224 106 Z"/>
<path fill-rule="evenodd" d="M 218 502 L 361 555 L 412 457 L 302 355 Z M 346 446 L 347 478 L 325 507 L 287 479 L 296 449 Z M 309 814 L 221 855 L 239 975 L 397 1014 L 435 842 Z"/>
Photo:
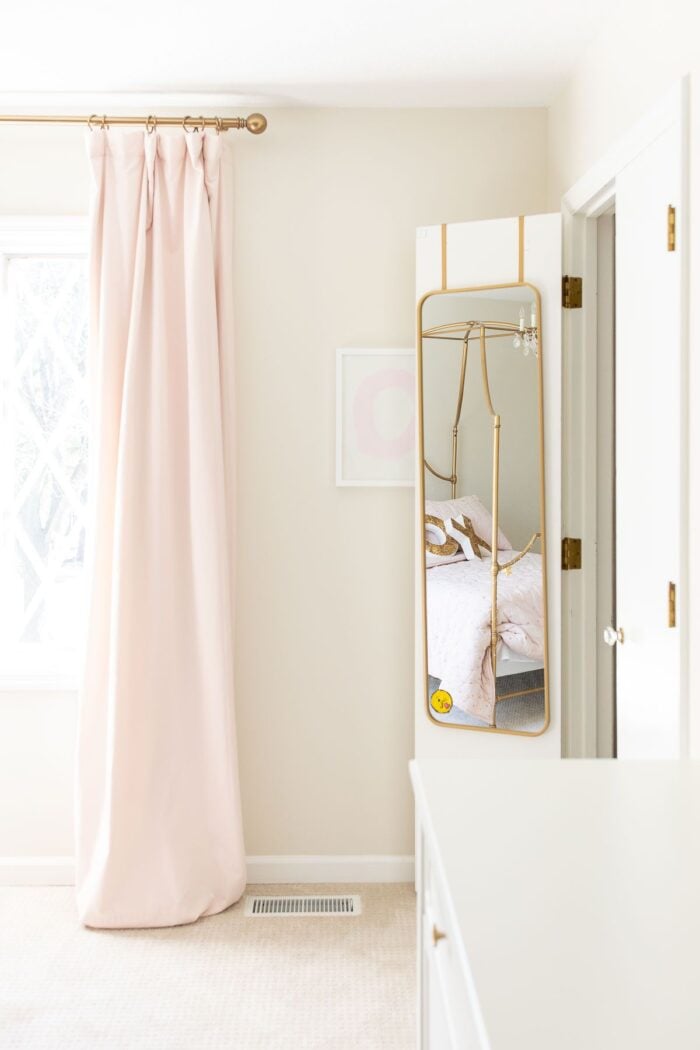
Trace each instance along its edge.
<path fill-rule="evenodd" d="M 409 885 L 359 892 L 357 918 L 247 919 L 98 931 L 71 888 L 0 888 L 2 1050 L 412 1050 Z"/>

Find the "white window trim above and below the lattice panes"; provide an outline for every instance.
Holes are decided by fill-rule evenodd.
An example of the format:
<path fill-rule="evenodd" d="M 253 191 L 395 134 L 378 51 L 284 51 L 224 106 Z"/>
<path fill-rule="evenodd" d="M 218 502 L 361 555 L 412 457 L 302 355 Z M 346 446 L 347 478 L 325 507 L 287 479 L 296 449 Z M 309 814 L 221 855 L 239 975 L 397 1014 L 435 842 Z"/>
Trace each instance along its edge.
<path fill-rule="evenodd" d="M 84 255 L 88 248 L 85 215 L 0 215 L 0 277 L 12 257 L 23 255 Z M 72 692 L 78 689 L 79 669 L 36 671 L 0 667 L 0 693 Z"/>

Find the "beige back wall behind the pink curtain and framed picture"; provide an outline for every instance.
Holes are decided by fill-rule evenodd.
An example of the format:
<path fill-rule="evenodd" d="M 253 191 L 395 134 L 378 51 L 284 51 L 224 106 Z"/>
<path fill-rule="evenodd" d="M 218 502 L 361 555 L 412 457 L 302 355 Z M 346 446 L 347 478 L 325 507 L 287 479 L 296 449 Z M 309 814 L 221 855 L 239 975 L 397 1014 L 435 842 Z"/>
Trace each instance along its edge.
<path fill-rule="evenodd" d="M 412 345 L 417 226 L 545 209 L 546 113 L 287 109 L 236 142 L 248 852 L 408 854 L 412 494 L 336 488 L 335 349 Z M 0 214 L 85 210 L 81 132 L 5 128 L 0 159 Z M 0 695 L 0 856 L 67 855 L 71 733 L 30 702 Z"/>

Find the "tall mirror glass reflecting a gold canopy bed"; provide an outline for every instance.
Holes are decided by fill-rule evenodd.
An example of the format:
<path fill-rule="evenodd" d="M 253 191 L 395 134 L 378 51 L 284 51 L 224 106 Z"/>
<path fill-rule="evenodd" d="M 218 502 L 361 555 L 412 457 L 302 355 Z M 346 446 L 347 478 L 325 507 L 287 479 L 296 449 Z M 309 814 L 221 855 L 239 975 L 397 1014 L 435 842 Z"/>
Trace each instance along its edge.
<path fill-rule="evenodd" d="M 446 727 L 549 721 L 539 314 L 524 284 L 420 311 L 427 708 Z"/>

